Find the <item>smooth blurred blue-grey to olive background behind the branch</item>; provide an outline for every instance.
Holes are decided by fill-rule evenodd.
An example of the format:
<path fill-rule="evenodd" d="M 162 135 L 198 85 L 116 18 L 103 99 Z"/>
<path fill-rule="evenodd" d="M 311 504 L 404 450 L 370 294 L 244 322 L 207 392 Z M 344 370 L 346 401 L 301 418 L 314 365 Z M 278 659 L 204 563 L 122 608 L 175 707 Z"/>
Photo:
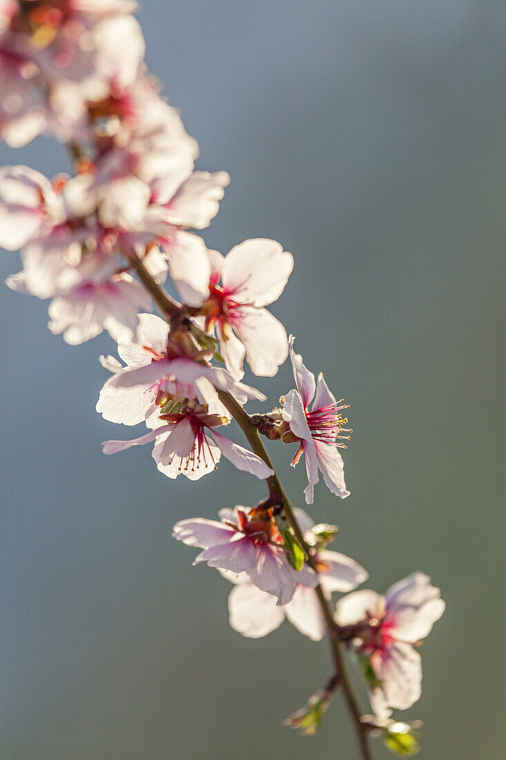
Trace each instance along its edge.
<path fill-rule="evenodd" d="M 423 758 L 500 760 L 506 6 L 151 0 L 140 20 L 198 167 L 232 176 L 208 245 L 265 236 L 293 252 L 273 312 L 351 404 L 352 495 L 320 484 L 312 513 L 340 526 L 332 548 L 367 587 L 422 569 L 447 601 L 422 698 L 398 715 L 425 722 Z M 68 168 L 43 138 L 0 153 Z M 104 457 L 101 441 L 131 437 L 94 411 L 112 341 L 68 347 L 43 302 L 6 287 L 0 310 L 0 756 L 355 758 L 340 695 L 317 736 L 281 725 L 326 678 L 327 644 L 287 622 L 242 638 L 229 584 L 170 536 L 254 504 L 262 483 L 226 461 L 174 483 L 148 447 Z M 289 366 L 259 385 L 272 407 Z M 302 505 L 303 465 L 270 451 Z"/>

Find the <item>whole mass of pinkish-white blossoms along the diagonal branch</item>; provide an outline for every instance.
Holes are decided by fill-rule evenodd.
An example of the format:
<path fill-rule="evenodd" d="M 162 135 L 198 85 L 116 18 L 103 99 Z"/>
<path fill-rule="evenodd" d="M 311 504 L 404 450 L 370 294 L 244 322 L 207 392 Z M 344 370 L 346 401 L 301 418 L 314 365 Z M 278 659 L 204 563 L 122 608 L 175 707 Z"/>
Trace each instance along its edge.
<path fill-rule="evenodd" d="M 110 377 L 96 410 L 147 432 L 104 442 L 104 453 L 153 444 L 158 470 L 188 480 L 216 470 L 223 455 L 267 480 L 266 501 L 222 508 L 220 521 L 180 521 L 173 535 L 201 549 L 195 563 L 232 582 L 233 629 L 258 638 L 286 618 L 315 641 L 337 637 L 362 663 L 372 708 L 386 718 L 419 698 L 415 646 L 444 603 L 419 572 L 384 597 L 354 591 L 368 573 L 327 548 L 334 527 L 291 511 L 267 454 L 221 432 L 239 409 L 252 435 L 296 446 L 307 505 L 320 473 L 332 494 L 349 496 L 347 405 L 321 373 L 315 379 L 267 309 L 293 256 L 264 238 L 225 256 L 207 249 L 198 233 L 217 214 L 229 175 L 195 169 L 198 144 L 147 71 L 134 11 L 131 0 L 0 2 L 0 137 L 21 147 L 53 135 L 72 169 L 51 179 L 27 166 L 0 169 L 0 245 L 20 250 L 23 264 L 8 286 L 50 299 L 49 329 L 68 344 L 103 331 L 115 340 L 121 361 L 100 356 Z M 166 282 L 180 304 L 166 296 Z M 247 415 L 248 400 L 266 397 L 243 382 L 245 364 L 272 378 L 288 357 L 295 387 L 272 412 Z M 347 595 L 329 629 L 334 592 Z"/>

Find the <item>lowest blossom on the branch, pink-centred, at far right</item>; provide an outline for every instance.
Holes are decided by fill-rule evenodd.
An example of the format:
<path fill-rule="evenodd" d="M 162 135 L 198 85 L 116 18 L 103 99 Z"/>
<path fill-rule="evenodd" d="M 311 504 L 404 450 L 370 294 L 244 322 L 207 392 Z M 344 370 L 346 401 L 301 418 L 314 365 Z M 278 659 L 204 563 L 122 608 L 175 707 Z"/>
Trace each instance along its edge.
<path fill-rule="evenodd" d="M 406 710 L 419 699 L 422 661 L 413 644 L 429 635 L 443 613 L 441 592 L 421 572 L 398 581 L 384 597 L 356 591 L 337 603 L 338 625 L 349 626 L 356 651 L 371 664 L 371 705 L 379 716 L 391 708 Z"/>

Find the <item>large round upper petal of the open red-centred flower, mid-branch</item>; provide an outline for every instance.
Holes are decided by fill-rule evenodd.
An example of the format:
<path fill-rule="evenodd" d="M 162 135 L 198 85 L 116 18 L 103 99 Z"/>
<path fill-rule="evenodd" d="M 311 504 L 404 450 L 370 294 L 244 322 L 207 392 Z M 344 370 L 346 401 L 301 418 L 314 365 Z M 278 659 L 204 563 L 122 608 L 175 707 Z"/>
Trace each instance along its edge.
<path fill-rule="evenodd" d="M 226 255 L 223 286 L 239 303 L 267 306 L 283 293 L 293 270 L 293 256 L 275 240 L 256 238 Z"/>

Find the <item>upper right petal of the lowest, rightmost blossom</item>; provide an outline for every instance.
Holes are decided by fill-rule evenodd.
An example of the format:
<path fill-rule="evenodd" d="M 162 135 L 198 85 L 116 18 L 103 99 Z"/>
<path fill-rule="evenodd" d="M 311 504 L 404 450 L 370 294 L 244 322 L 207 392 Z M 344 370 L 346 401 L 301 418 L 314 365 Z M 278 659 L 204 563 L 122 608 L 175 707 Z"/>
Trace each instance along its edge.
<path fill-rule="evenodd" d="M 398 581 L 388 589 L 385 598 L 385 620 L 394 624 L 396 638 L 412 644 L 429 635 L 432 625 L 444 613 L 441 591 L 422 572 Z"/>

